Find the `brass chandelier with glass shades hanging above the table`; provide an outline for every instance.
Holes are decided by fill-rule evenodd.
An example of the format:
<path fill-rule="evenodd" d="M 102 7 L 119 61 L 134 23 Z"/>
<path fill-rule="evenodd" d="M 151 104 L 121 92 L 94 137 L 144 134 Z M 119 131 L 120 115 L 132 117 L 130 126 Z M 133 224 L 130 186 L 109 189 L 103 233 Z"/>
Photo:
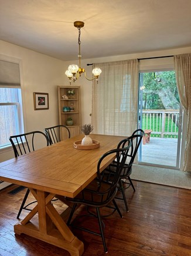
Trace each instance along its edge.
<path fill-rule="evenodd" d="M 81 34 L 81 32 L 80 32 L 80 30 L 81 30 L 81 28 L 83 28 L 84 22 L 75 21 L 74 26 L 79 30 L 79 41 L 78 41 L 78 44 L 79 44 L 79 55 L 78 55 L 78 57 L 79 57 L 79 66 L 75 65 L 75 64 L 71 64 L 68 67 L 65 74 L 69 78 L 70 84 L 71 84 L 71 81 L 75 82 L 77 79 L 79 79 L 81 77 L 81 73 L 84 73 L 84 76 L 88 81 L 92 81 L 93 79 L 96 79 L 97 82 L 98 82 L 98 77 L 101 74 L 101 69 L 100 68 L 94 68 L 93 69 L 93 71 L 92 71 L 92 73 L 94 75 L 93 78 L 87 78 L 86 77 L 86 70 L 84 68 L 81 68 L 81 49 L 80 49 L 80 45 L 81 45 L 80 34 Z"/>

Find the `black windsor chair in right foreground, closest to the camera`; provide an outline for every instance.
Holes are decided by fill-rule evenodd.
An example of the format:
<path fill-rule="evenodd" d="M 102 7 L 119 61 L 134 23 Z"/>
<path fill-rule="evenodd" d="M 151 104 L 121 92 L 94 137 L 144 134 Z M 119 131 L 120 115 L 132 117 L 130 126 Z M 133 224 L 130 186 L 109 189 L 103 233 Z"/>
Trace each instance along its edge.
<path fill-rule="evenodd" d="M 117 210 L 118 214 L 122 218 L 122 214 L 114 198 L 115 198 L 115 195 L 117 194 L 117 184 L 120 178 L 122 168 L 124 168 L 124 164 L 128 155 L 129 148 L 131 148 L 131 141 L 129 141 L 129 139 L 125 139 L 124 141 L 126 142 L 126 144 L 128 144 L 127 147 L 112 149 L 111 151 L 106 152 L 100 158 L 97 164 L 97 178 L 95 178 L 92 182 L 90 182 L 90 184 L 87 185 L 87 187 L 84 188 L 83 191 L 81 191 L 75 198 L 66 197 L 67 201 L 73 202 L 73 207 L 71 208 L 67 225 L 71 225 L 74 228 L 79 228 L 80 230 L 90 232 L 91 234 L 100 235 L 103 241 L 105 253 L 107 252 L 107 246 L 105 244 L 104 227 L 103 227 L 104 224 L 102 221 L 103 216 L 100 215 L 100 208 L 107 207 L 108 204 L 112 202 L 114 207 L 110 207 L 110 208 L 114 208 L 115 210 Z M 104 176 L 101 175 L 103 162 L 108 155 L 114 155 L 114 156 L 116 155 L 115 174 L 112 175 L 112 179 L 110 179 L 110 181 L 105 180 Z M 75 220 L 71 223 L 71 218 L 73 217 L 77 204 L 86 205 L 88 216 L 98 218 L 98 224 L 100 228 L 99 233 L 88 230 L 87 228 L 84 228 L 84 227 L 80 227 L 79 225 L 74 225 L 73 223 Z M 96 208 L 96 213 L 95 214 L 91 213 L 88 210 L 88 207 L 91 207 L 94 209 Z M 84 217 L 87 217 L 87 215 L 84 215 Z"/>

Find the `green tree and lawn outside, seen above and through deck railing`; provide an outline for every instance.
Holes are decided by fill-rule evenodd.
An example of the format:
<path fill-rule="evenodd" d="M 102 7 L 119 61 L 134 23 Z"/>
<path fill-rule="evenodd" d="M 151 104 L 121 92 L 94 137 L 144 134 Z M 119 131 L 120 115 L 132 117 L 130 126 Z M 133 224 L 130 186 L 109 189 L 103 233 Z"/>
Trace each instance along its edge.
<path fill-rule="evenodd" d="M 143 110 L 179 109 L 180 100 L 176 86 L 175 71 L 145 72 L 142 74 L 142 81 L 143 88 L 141 94 Z M 175 122 L 175 115 L 173 115 L 173 119 L 170 116 L 169 121 L 165 119 L 165 132 L 178 132 L 178 126 Z M 143 129 L 149 128 L 155 132 L 161 131 L 159 125 L 159 119 L 157 123 L 156 114 L 152 114 L 152 117 L 148 116 L 148 118 L 144 115 L 142 116 Z M 151 134 L 151 136 L 160 137 L 160 135 L 156 134 Z M 164 135 L 165 137 L 169 136 Z M 170 135 L 170 138 L 178 138 L 178 136 Z"/>

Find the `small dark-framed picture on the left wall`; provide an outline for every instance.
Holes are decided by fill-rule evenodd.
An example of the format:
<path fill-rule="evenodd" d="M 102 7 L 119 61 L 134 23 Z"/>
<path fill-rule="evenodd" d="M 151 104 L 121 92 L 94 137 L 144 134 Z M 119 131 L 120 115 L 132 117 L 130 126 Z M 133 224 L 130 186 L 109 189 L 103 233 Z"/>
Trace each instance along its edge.
<path fill-rule="evenodd" d="M 35 110 L 49 109 L 49 94 L 33 92 Z"/>

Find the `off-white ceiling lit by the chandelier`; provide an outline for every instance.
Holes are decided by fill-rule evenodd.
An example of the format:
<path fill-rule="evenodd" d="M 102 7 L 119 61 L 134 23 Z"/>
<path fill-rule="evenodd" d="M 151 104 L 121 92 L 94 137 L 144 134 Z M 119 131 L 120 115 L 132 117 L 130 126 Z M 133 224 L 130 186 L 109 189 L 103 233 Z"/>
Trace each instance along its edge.
<path fill-rule="evenodd" d="M 64 61 L 191 46 L 191 0 L 0 0 L 0 39 Z"/>

